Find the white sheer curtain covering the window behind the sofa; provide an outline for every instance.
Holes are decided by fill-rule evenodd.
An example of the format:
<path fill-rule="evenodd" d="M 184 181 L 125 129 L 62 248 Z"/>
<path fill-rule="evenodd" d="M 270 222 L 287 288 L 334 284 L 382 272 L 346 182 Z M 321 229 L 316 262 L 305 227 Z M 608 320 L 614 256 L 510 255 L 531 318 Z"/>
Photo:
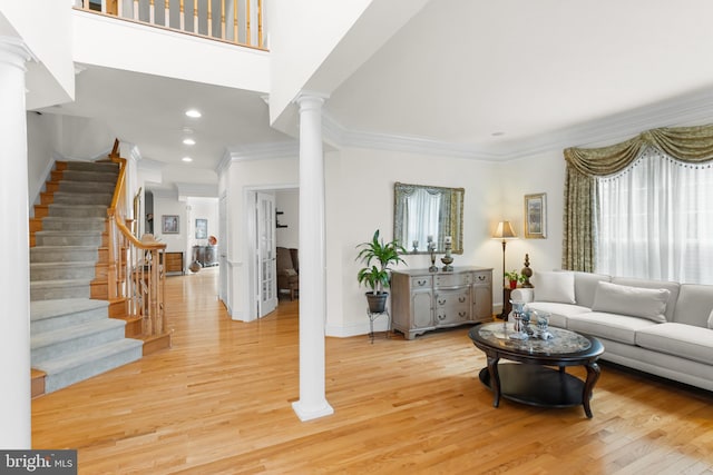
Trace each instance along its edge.
<path fill-rule="evenodd" d="M 597 179 L 596 270 L 713 284 L 713 167 L 647 147 L 617 175 Z"/>

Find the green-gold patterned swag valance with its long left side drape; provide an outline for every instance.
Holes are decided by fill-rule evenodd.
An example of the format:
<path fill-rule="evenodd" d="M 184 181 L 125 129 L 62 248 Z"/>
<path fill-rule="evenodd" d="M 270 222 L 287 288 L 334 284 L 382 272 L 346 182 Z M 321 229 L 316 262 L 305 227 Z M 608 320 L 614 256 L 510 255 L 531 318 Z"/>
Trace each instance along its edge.
<path fill-rule="evenodd" d="M 652 129 L 608 147 L 567 148 L 565 160 L 564 269 L 594 271 L 597 235 L 596 177 L 617 174 L 654 147 L 686 162 L 713 160 L 713 125 Z"/>

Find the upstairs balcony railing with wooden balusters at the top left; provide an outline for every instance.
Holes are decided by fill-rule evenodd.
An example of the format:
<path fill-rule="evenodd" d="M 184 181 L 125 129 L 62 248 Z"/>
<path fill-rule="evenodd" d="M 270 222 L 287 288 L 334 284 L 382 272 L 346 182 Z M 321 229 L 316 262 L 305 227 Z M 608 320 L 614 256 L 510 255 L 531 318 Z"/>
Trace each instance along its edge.
<path fill-rule="evenodd" d="M 266 49 L 263 0 L 75 0 L 75 8 Z"/>

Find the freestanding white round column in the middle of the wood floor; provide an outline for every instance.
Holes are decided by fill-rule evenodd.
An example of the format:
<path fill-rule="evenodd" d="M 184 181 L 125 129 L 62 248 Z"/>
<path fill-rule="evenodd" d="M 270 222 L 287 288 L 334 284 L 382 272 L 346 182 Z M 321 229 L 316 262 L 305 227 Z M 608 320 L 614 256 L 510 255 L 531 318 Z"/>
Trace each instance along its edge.
<path fill-rule="evenodd" d="M 334 413 L 324 396 L 324 99 L 303 92 L 295 100 L 300 106 L 300 400 L 292 408 L 301 420 Z"/>

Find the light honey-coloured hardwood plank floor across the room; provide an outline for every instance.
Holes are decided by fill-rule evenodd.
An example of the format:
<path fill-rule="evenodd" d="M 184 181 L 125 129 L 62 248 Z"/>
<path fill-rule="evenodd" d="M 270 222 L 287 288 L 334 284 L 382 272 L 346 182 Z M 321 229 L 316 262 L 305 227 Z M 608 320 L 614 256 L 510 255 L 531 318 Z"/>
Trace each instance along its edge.
<path fill-rule="evenodd" d="M 335 413 L 302 423 L 297 300 L 232 321 L 217 275 L 168 278 L 172 349 L 35 399 L 33 447 L 80 474 L 713 474 L 713 394 L 603 366 L 592 419 L 496 409 L 468 328 L 328 338 Z"/>

